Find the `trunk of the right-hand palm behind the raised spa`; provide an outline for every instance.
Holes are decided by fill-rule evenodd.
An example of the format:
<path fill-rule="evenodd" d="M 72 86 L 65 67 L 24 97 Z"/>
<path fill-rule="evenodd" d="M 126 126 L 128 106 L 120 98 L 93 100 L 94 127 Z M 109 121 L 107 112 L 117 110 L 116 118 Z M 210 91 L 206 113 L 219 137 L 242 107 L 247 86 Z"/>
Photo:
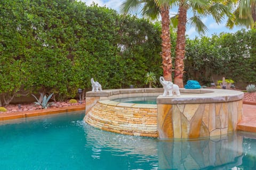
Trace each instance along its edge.
<path fill-rule="evenodd" d="M 175 49 L 175 71 L 174 71 L 174 84 L 179 88 L 183 88 L 183 70 L 186 46 L 186 23 L 187 23 L 187 8 L 184 5 L 179 6 L 179 22 L 177 30 L 177 44 Z"/>

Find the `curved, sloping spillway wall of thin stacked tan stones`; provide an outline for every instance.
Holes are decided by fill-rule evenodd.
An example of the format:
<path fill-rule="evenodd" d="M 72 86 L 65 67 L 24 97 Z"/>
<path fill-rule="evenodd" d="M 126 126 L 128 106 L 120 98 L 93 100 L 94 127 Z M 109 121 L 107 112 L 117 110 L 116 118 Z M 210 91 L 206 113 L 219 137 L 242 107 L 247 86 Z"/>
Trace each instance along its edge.
<path fill-rule="evenodd" d="M 150 108 L 135 104 L 125 107 L 98 101 L 86 114 L 85 122 L 109 132 L 157 137 L 156 105 Z"/>

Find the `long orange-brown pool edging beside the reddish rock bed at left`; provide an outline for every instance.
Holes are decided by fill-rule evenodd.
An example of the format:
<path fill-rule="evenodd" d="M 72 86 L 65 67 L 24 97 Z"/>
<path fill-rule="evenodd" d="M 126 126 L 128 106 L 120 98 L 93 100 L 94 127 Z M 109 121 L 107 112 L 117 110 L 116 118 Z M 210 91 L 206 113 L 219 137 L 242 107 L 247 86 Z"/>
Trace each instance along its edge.
<path fill-rule="evenodd" d="M 78 106 L 68 106 L 61 108 L 47 108 L 40 109 L 35 111 L 26 111 L 26 112 L 13 112 L 13 113 L 1 113 L 0 121 L 12 120 L 15 118 L 25 118 L 25 117 L 33 117 L 33 116 L 43 116 L 57 113 L 67 113 L 74 111 L 85 111 L 85 104 L 81 104 Z"/>

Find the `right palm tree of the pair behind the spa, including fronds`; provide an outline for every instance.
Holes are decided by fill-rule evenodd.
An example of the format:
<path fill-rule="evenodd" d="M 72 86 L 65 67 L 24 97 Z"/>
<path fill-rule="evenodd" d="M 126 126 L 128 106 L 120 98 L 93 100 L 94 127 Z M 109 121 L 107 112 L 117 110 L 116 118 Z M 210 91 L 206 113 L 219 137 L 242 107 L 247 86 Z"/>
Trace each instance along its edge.
<path fill-rule="evenodd" d="M 158 4 L 161 4 L 161 0 L 155 0 Z M 208 1 L 208 0 L 180 0 L 179 11 L 177 16 L 172 19 L 178 19 L 177 29 L 177 42 L 175 47 L 175 70 L 174 70 L 174 84 L 177 84 L 180 88 L 183 88 L 183 70 L 185 58 L 185 46 L 186 46 L 186 24 L 191 22 L 199 33 L 205 33 L 207 27 L 200 19 L 200 16 L 211 14 L 217 23 L 223 19 L 223 14 L 228 12 L 227 6 L 220 3 L 220 1 Z M 187 20 L 187 11 L 191 8 L 194 13 L 189 20 Z"/>

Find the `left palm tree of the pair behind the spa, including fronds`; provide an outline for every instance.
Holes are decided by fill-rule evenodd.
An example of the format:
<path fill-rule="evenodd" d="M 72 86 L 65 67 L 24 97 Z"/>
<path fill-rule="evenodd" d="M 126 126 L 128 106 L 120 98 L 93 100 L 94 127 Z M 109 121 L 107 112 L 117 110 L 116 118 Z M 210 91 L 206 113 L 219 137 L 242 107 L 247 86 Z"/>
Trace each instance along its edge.
<path fill-rule="evenodd" d="M 120 8 L 121 13 L 128 12 L 141 13 L 143 17 L 150 20 L 157 19 L 160 14 L 162 17 L 162 67 L 164 79 L 172 81 L 172 58 L 170 40 L 170 3 L 174 1 L 163 0 L 161 5 L 157 5 L 154 0 L 126 0 Z M 141 11 L 139 11 L 141 10 Z"/>

